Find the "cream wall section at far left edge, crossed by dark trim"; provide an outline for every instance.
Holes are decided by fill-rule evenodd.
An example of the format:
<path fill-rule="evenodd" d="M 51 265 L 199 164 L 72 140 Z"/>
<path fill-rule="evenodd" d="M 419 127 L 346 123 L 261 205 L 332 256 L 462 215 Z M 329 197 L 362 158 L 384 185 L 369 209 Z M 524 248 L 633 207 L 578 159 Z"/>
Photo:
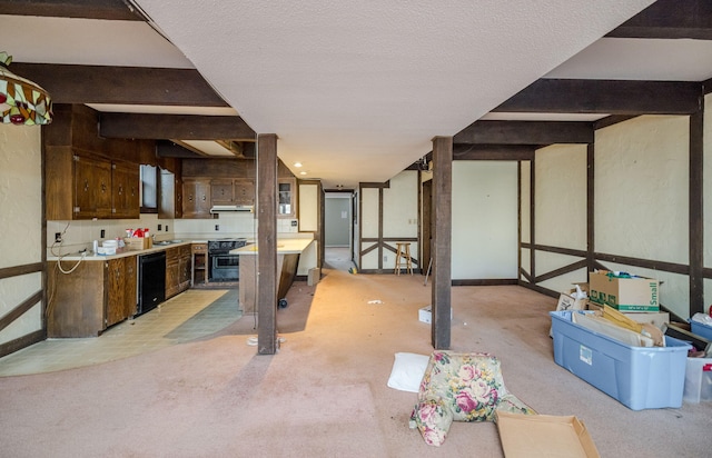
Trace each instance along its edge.
<path fill-rule="evenodd" d="M 0 123 L 0 268 L 42 260 L 40 129 Z M 0 317 L 41 288 L 39 272 L 0 280 Z M 38 303 L 0 331 L 0 344 L 41 328 Z"/>

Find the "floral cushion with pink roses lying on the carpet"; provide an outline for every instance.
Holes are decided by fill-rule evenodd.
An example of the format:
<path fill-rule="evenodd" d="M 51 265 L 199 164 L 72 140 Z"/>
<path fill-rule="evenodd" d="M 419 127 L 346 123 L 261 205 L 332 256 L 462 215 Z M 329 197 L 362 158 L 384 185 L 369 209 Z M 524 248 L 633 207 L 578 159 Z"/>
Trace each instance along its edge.
<path fill-rule="evenodd" d="M 507 392 L 500 360 L 487 354 L 431 355 L 411 416 L 426 444 L 439 446 L 453 421 L 494 421 L 495 411 L 536 414 Z"/>

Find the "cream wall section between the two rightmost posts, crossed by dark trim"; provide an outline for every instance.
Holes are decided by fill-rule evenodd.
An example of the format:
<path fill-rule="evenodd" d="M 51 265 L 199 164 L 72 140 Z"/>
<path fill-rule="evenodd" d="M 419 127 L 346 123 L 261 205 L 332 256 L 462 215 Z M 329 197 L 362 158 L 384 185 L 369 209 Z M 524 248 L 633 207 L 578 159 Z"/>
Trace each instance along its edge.
<path fill-rule="evenodd" d="M 643 116 L 595 133 L 595 250 L 689 263 L 689 117 Z M 661 303 L 689 316 L 686 276 L 620 265 L 663 281 Z"/>

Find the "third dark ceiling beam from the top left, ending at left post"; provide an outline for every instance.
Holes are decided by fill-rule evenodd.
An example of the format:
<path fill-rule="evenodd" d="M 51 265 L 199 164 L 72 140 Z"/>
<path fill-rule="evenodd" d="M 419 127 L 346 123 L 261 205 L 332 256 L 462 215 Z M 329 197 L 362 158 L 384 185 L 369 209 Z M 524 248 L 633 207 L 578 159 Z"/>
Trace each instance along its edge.
<path fill-rule="evenodd" d="M 239 116 L 101 113 L 103 138 L 152 140 L 254 140 L 255 131 Z"/>

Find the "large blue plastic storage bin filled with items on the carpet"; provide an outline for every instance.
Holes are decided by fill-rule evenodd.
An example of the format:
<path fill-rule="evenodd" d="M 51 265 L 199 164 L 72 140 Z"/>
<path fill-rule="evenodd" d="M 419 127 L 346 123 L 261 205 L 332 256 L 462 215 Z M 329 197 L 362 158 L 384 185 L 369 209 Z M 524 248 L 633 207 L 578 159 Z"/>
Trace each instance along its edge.
<path fill-rule="evenodd" d="M 572 321 L 584 312 L 550 312 L 558 366 L 632 410 L 682 406 L 689 344 L 665 336 L 668 347 L 632 347 Z"/>

